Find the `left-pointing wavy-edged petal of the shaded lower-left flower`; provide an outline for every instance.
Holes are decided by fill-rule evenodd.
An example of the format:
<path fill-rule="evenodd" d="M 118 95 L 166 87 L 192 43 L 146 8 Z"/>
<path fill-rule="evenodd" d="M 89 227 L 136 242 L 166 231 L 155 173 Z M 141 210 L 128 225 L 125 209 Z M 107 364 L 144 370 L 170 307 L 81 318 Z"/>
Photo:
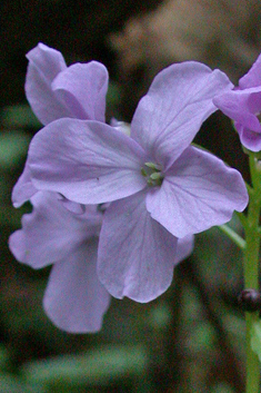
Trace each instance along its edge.
<path fill-rule="evenodd" d="M 84 215 L 74 215 L 63 207 L 57 195 L 37 193 L 33 212 L 22 217 L 22 229 L 14 232 L 9 246 L 14 257 L 41 268 L 61 261 L 83 240 L 99 233 L 101 214 L 88 207 Z"/>

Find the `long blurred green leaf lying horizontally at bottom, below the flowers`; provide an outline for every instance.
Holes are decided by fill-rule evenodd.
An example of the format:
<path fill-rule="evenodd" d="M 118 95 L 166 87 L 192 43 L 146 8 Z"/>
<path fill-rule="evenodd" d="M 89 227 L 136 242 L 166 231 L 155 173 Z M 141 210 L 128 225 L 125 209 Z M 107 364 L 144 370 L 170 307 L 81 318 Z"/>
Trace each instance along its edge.
<path fill-rule="evenodd" d="M 23 366 L 29 383 L 46 386 L 102 385 L 121 379 L 142 375 L 147 355 L 141 346 L 109 346 L 84 355 L 66 355 L 32 362 Z"/>

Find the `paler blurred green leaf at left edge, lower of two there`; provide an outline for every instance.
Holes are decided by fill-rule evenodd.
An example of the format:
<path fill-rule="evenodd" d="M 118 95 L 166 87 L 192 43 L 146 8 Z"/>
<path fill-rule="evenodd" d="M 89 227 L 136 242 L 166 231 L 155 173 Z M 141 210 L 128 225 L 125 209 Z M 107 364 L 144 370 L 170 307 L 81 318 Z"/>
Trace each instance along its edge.
<path fill-rule="evenodd" d="M 11 168 L 27 155 L 30 136 L 23 131 L 9 131 L 0 135 L 0 166 Z"/>

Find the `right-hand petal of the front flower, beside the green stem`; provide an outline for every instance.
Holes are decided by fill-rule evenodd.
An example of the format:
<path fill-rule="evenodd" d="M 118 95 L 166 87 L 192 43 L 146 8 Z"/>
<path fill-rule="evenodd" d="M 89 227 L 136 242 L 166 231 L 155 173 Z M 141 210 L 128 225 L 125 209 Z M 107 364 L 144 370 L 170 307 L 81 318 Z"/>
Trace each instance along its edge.
<path fill-rule="evenodd" d="M 177 237 L 197 234 L 242 212 L 248 193 L 241 175 L 207 151 L 189 147 L 147 196 L 151 217 Z"/>

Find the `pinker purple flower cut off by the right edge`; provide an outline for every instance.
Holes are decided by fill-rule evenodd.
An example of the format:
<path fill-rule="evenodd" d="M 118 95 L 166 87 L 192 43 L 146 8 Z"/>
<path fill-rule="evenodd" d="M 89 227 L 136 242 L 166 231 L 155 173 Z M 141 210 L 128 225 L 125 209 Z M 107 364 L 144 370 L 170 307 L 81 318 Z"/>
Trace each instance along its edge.
<path fill-rule="evenodd" d="M 241 144 L 249 150 L 261 150 L 261 55 L 239 80 L 239 87 L 215 97 L 213 102 L 234 120 Z"/>

